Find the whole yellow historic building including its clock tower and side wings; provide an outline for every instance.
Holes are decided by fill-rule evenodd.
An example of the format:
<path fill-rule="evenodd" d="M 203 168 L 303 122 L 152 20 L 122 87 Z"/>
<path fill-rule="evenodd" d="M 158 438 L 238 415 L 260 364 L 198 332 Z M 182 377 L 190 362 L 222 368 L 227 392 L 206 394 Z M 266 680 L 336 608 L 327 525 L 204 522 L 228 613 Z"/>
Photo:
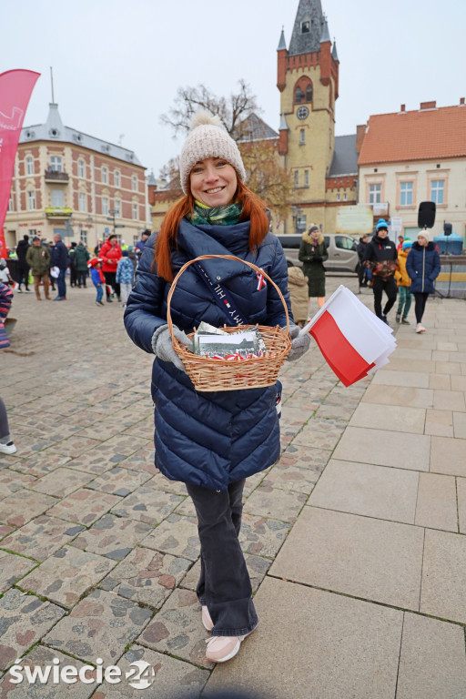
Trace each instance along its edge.
<path fill-rule="evenodd" d="M 279 163 L 294 183 L 286 220 L 271 211 L 275 233 L 301 233 L 316 223 L 335 232 L 337 208 L 356 204 L 358 153 L 356 134 L 335 137 L 335 102 L 339 96 L 339 58 L 330 41 L 320 0 L 299 0 L 287 48 L 284 32 L 278 47 L 279 133 L 251 115 L 252 140 L 277 145 Z M 272 86 L 270 86 L 272 88 Z M 179 192 L 181 195 L 181 192 Z M 173 186 L 149 180 L 152 226 L 157 230 L 173 200 Z"/>

